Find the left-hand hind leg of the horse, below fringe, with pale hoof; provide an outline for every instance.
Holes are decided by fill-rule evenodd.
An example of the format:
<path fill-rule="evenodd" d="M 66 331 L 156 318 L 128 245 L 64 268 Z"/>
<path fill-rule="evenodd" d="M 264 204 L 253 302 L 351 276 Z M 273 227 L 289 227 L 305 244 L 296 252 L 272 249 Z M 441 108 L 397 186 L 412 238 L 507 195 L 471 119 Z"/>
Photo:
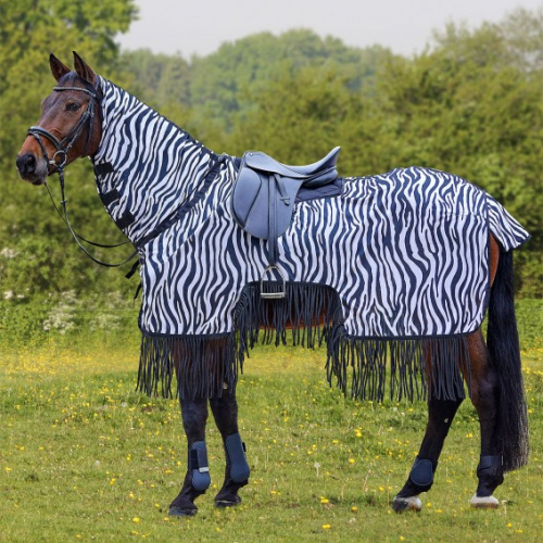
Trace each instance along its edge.
<path fill-rule="evenodd" d="M 462 399 L 428 401 L 428 425 L 419 453 L 407 482 L 392 502 L 392 508 L 396 513 L 421 509 L 422 503 L 418 495 L 421 492 L 428 492 L 433 484 L 438 459 L 462 401 Z"/>

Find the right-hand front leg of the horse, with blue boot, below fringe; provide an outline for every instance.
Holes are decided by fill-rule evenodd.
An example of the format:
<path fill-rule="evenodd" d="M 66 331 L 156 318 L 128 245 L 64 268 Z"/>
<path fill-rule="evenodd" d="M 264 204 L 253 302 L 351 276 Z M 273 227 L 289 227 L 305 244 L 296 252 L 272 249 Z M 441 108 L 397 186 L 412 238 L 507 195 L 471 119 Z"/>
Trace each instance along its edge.
<path fill-rule="evenodd" d="M 245 447 L 238 430 L 238 402 L 236 394 L 225 391 L 222 397 L 210 400 L 211 411 L 223 437 L 226 471 L 223 488 L 215 496 L 217 507 L 231 507 L 241 503 L 238 491 L 249 482 L 250 468 Z"/>

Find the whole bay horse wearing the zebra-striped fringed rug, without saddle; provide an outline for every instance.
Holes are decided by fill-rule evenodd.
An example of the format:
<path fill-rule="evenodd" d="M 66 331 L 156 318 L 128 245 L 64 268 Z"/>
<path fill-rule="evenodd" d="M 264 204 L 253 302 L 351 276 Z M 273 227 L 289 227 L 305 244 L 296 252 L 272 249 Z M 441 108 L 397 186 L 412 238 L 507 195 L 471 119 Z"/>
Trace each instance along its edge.
<path fill-rule="evenodd" d="M 351 366 L 352 394 L 356 397 L 382 399 L 387 367 L 396 371 L 390 384 L 395 387 L 400 396 L 413 399 L 413 379 L 417 376 L 422 379 L 428 425 L 408 478 L 393 498 L 395 512 L 421 509 L 419 495 L 432 487 L 445 438 L 464 400 L 465 383 L 479 417 L 481 433 L 478 485 L 470 503 L 478 508 L 498 506 L 493 493 L 503 483 L 504 473 L 528 462 L 527 407 L 513 299 L 512 250 L 529 236 L 497 202 L 458 177 L 416 168 L 397 169 L 375 178 L 345 179 L 339 185 L 339 195 L 312 197 L 310 202 L 298 202 L 294 207 L 290 202 L 292 194 L 278 193 L 278 199 L 291 205 L 292 215 L 287 217 L 287 233 L 275 231 L 279 243 L 277 239 L 267 240 L 268 245 L 276 245 L 273 262 L 269 262 L 266 239 L 244 231 L 232 219 L 232 181 L 241 178 L 243 166 L 239 159 L 216 155 L 142 102 L 98 76 L 77 53 L 74 52 L 74 71 L 53 54 L 49 61 L 56 86 L 43 100 L 41 117 L 36 126 L 30 127 L 16 166 L 24 180 L 40 186 L 53 174 L 59 174 L 63 182 L 64 168 L 76 159 L 88 156 L 94 165 L 103 205 L 138 250 L 143 285 L 140 314 L 143 340 L 138 382 L 148 393 L 159 393 L 161 384 L 162 392 L 167 394 L 172 380 L 177 378 L 187 435 L 187 472 L 179 494 L 169 506 L 171 516 L 195 514 L 195 498 L 210 487 L 205 444 L 207 405 L 226 452 L 225 479 L 215 496 L 215 505 L 230 507 L 241 502 L 239 491 L 248 484 L 250 466 L 238 428 L 236 378 L 243 353 L 257 341 L 258 330 L 264 326 L 279 330 L 276 343 L 283 339 L 288 326 L 302 328 L 304 338 L 294 334 L 294 340 L 298 338 L 299 342 L 305 341 L 310 346 L 324 338 L 329 345 L 327 368 L 330 382 L 337 378 L 340 388 L 345 389 L 346 371 Z M 258 159 L 261 166 L 257 167 L 266 175 L 257 178 L 262 182 L 277 181 L 279 191 L 285 187 L 292 190 L 295 186 L 296 192 L 301 178 L 313 176 L 314 179 L 315 173 L 320 175 L 325 166 L 328 173 L 334 167 L 332 154 L 316 165 L 302 167 L 285 166 L 268 159 L 266 155 Z M 266 166 L 262 166 L 262 161 Z M 250 163 L 250 160 L 245 162 Z M 254 177 L 254 172 L 251 175 Z M 283 180 L 287 177 L 285 186 L 279 182 L 281 176 Z M 292 179 L 298 179 L 298 185 Z M 394 192 L 400 181 L 403 192 L 393 197 L 394 204 L 387 209 L 387 213 L 379 211 L 379 204 L 376 204 L 377 212 L 367 212 L 364 205 L 357 205 L 358 197 L 352 195 L 354 190 L 356 194 L 367 191 L 368 198 L 378 202 L 384 198 L 383 187 L 387 190 L 392 187 Z M 428 182 L 434 188 L 429 188 Z M 272 185 L 268 187 L 267 197 L 272 200 Z M 432 190 L 427 198 L 427 192 Z M 412 198 L 409 194 L 415 194 L 412 211 L 405 206 L 399 211 L 400 202 Z M 454 212 L 444 212 L 447 218 L 441 220 L 435 206 L 443 207 L 446 202 L 457 207 Z M 281 205 L 280 200 L 274 200 L 273 204 L 274 210 Z M 336 216 L 330 205 L 340 204 L 343 205 L 340 215 L 348 215 L 348 218 L 338 229 L 330 223 L 330 217 Z M 483 218 L 471 227 L 469 217 L 476 215 L 471 211 L 476 205 L 483 210 Z M 311 213 L 307 210 L 312 210 Z M 308 233 L 310 223 L 315 217 L 320 220 L 323 210 L 329 210 L 330 215 L 326 215 L 329 224 L 314 235 Z M 362 215 L 364 213 L 369 215 Z M 403 224 L 395 226 L 393 233 L 383 226 L 383 220 L 389 220 L 389 217 L 380 215 L 387 214 L 396 216 L 397 224 Z M 419 237 L 409 241 L 406 233 L 412 231 L 407 226 L 414 224 L 416 215 L 424 215 L 417 228 L 426 241 Z M 433 218 L 429 219 L 430 216 Z M 449 231 L 453 216 L 466 222 L 462 223 L 462 228 L 451 230 L 451 235 L 440 233 Z M 270 219 L 272 215 L 267 218 Z M 220 225 L 227 225 L 224 235 Z M 340 266 L 344 268 L 343 273 L 363 269 L 368 283 L 365 295 L 371 305 L 359 311 L 356 307 L 349 310 L 350 294 L 341 294 L 340 300 L 330 285 L 316 285 L 318 280 L 326 282 L 323 277 L 328 268 L 314 268 L 312 258 L 329 264 L 339 257 L 337 253 L 343 251 L 338 245 L 343 239 L 353 247 L 361 247 L 361 232 L 372 225 L 380 225 L 382 231 L 364 235 L 364 258 L 343 258 Z M 337 231 L 341 229 L 349 231 Z M 199 232 L 203 233 L 199 237 Z M 471 243 L 470 236 L 476 236 L 477 241 Z M 334 237 L 333 247 L 327 244 L 329 237 Z M 283 241 L 287 238 L 294 249 Z M 215 249 L 210 245 L 210 239 L 217 243 Z M 301 251 L 302 239 L 312 248 L 301 257 L 312 262 L 303 262 L 302 267 L 311 268 L 313 275 L 296 282 L 295 278 L 291 280 L 289 266 L 293 266 L 291 263 L 296 251 Z M 356 243 L 353 240 L 357 240 Z M 432 254 L 440 251 L 438 245 L 449 243 L 456 243 L 446 253 L 449 256 L 443 256 L 434 268 L 428 267 Z M 400 272 L 394 272 L 390 254 L 400 251 L 397 245 L 402 245 L 403 253 L 408 253 L 402 257 L 415 263 L 411 268 L 399 267 Z M 459 247 L 465 254 L 455 256 L 453 253 L 458 252 Z M 389 256 L 383 256 L 386 262 L 377 267 L 371 261 L 371 251 L 381 248 Z M 166 254 L 166 249 L 172 254 Z M 213 257 L 210 257 L 210 251 L 215 251 Z M 245 256 L 240 257 L 240 254 Z M 451 254 L 455 257 L 451 258 Z M 188 258 L 192 258 L 190 265 Z M 455 264 L 455 258 L 462 260 L 460 266 Z M 249 264 L 240 262 L 243 260 L 250 261 Z M 477 265 L 471 266 L 471 261 Z M 265 272 L 272 268 L 279 276 L 276 276 L 276 281 L 266 280 L 263 285 L 262 270 L 267 264 L 270 267 Z M 243 272 L 236 272 L 236 266 L 244 266 Z M 258 275 L 247 272 L 250 266 L 257 269 Z M 445 283 L 456 283 L 463 269 L 470 269 L 470 266 L 475 272 L 463 283 L 460 306 L 454 305 L 456 294 L 445 296 L 442 302 L 441 294 L 432 294 L 431 285 L 441 281 L 441 275 Z M 182 289 L 190 285 L 194 289 L 191 295 L 197 295 L 195 283 L 202 276 L 194 272 L 195 268 L 201 274 L 212 275 L 213 289 L 207 288 L 201 299 L 191 304 L 181 294 L 185 295 Z M 223 277 L 223 269 L 243 276 L 239 282 L 245 287 L 232 293 L 233 279 Z M 426 273 L 420 274 L 417 269 Z M 176 274 L 180 274 L 180 279 Z M 289 275 L 288 280 L 282 274 Z M 382 277 L 375 277 L 376 274 L 382 274 Z M 407 291 L 416 292 L 407 294 L 405 300 L 415 307 L 413 320 L 424 329 L 425 336 L 420 336 L 422 332 L 417 336 L 413 329 L 409 331 L 402 312 L 388 306 L 393 304 L 392 293 L 399 283 L 405 283 Z M 420 283 L 420 290 L 409 287 L 415 283 Z M 266 285 L 277 288 L 272 289 L 272 300 L 263 301 L 260 294 Z M 377 299 L 371 296 L 386 299 L 379 314 Z M 476 316 L 462 328 L 454 328 L 450 323 L 463 319 L 469 312 L 471 298 L 478 298 L 473 310 Z M 223 299 L 228 300 L 230 310 L 226 312 L 222 310 L 222 304 L 226 304 Z M 169 305 L 165 303 L 167 300 L 171 300 Z M 426 307 L 425 318 L 419 313 L 422 306 Z M 225 315 L 217 317 L 212 313 L 214 307 L 219 307 L 218 313 Z M 348 310 L 356 313 L 353 321 L 367 318 L 365 326 L 378 327 L 384 323 L 382 338 L 364 332 L 350 334 Z M 481 324 L 487 311 L 485 341 Z M 407 305 L 403 312 L 409 312 Z M 230 327 L 228 333 L 214 328 L 217 318 L 226 319 Z M 420 324 L 422 320 L 429 324 Z M 444 328 L 437 327 L 437 321 L 445 323 Z M 401 323 L 404 331 L 401 327 L 394 328 L 394 323 Z M 269 339 L 269 332 L 266 333 Z"/>

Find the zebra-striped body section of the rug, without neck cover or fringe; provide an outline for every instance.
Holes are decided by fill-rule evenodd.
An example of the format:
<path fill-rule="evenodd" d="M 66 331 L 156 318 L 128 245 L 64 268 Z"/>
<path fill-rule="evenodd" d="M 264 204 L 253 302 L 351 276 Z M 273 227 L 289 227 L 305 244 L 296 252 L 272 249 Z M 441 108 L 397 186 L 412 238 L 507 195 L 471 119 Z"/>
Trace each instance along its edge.
<path fill-rule="evenodd" d="M 144 249 L 146 331 L 233 329 L 242 289 L 267 266 L 264 243 L 230 213 L 233 177 L 229 163 L 217 190 Z M 496 210 L 483 191 L 442 172 L 412 167 L 345 179 L 341 197 L 298 204 L 279 240 L 279 267 L 290 282 L 338 292 L 351 337 L 469 333 L 481 325 L 489 295 L 489 223 L 502 225 L 502 244 L 518 243 L 519 225 Z"/>

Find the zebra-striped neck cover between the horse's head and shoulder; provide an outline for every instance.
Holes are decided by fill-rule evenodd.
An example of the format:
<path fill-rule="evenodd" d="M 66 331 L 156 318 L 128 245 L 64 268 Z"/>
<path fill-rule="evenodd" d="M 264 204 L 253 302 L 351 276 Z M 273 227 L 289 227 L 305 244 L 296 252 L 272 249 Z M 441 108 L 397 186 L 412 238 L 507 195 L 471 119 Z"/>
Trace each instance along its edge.
<path fill-rule="evenodd" d="M 94 164 L 113 172 L 97 178 L 100 194 L 119 198 L 106 206 L 115 223 L 137 243 L 198 190 L 216 155 L 179 127 L 119 87 L 99 77 L 104 94 L 102 140 Z"/>

